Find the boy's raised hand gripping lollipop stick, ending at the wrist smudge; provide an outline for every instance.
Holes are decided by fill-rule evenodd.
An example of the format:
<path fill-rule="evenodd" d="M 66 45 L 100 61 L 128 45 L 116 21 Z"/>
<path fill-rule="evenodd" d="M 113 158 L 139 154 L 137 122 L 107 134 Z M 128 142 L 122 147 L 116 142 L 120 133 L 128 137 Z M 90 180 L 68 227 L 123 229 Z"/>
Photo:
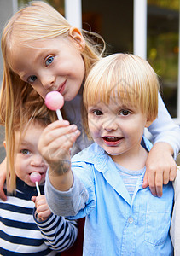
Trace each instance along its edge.
<path fill-rule="evenodd" d="M 38 150 L 55 176 L 70 169 L 70 148 L 79 134 L 77 126 L 69 125 L 66 120 L 55 121 L 44 129 L 39 138 Z"/>

